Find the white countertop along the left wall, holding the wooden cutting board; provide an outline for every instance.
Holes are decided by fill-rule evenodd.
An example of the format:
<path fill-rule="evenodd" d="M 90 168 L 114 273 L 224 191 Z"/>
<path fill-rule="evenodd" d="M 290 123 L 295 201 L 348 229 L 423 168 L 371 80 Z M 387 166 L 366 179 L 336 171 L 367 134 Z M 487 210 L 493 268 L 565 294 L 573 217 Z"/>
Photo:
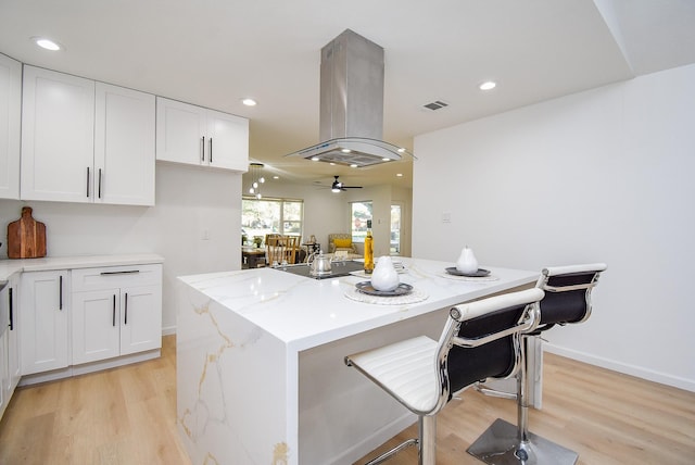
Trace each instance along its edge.
<path fill-rule="evenodd" d="M 154 253 L 136 253 L 124 255 L 46 256 L 42 259 L 0 260 L 0 280 L 8 279 L 18 272 L 48 272 L 53 269 L 146 265 L 152 263 L 164 263 L 164 257 Z"/>

